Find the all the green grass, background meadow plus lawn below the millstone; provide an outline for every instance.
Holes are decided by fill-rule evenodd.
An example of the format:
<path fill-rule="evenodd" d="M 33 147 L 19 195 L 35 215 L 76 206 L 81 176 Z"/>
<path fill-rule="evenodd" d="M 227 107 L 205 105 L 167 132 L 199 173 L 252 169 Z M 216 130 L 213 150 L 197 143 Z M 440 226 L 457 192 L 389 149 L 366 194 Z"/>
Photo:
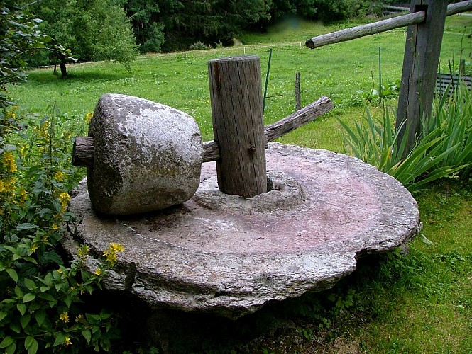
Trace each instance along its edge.
<path fill-rule="evenodd" d="M 354 24 L 325 27 L 291 21 L 267 34 L 244 35 L 239 47 L 141 57 L 131 72 L 110 62 L 71 65 L 68 79 L 54 76 L 50 68 L 33 70 L 28 82 L 11 93 L 20 112 L 43 115 L 55 105 L 75 118 L 92 112 L 101 94 L 140 96 L 189 113 L 209 140 L 209 59 L 259 55 L 264 83 L 268 50 L 273 48 L 265 123 L 294 111 L 295 73 L 300 72 L 302 104 L 326 95 L 335 108 L 280 142 L 342 152 L 342 132 L 334 117 L 346 122 L 361 118 L 364 93 L 378 87 L 379 48 L 383 84 L 389 84 L 400 79 L 405 47 L 404 30 L 317 50 L 304 47 L 313 35 Z M 448 59 L 471 62 L 471 26 L 468 16 L 447 19 L 441 70 L 448 68 Z M 395 98 L 389 102 L 395 107 Z M 380 115 L 377 101 L 371 110 Z M 247 319 L 225 322 L 226 332 L 213 327 L 196 341 L 214 352 L 228 340 L 224 348 L 238 353 L 471 353 L 472 181 L 441 181 L 415 197 L 424 238 L 412 241 L 407 256 L 392 253 L 364 260 L 332 290 L 270 304 Z M 197 327 L 184 329 L 201 333 Z M 176 332 L 175 342 L 178 338 L 187 337 Z"/>

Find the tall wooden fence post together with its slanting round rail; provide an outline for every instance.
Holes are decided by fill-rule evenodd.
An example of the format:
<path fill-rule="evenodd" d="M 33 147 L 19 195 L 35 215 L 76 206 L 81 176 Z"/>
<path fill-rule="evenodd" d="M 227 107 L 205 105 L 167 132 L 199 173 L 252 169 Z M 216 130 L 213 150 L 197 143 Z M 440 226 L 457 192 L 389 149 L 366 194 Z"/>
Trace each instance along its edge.
<path fill-rule="evenodd" d="M 405 151 L 409 152 L 422 118 L 429 117 L 432 110 L 446 16 L 471 10 L 472 1 L 448 6 L 444 0 L 412 0 L 407 15 L 319 35 L 305 45 L 314 49 L 408 26 L 396 126 L 400 129 L 400 140 L 407 134 Z"/>

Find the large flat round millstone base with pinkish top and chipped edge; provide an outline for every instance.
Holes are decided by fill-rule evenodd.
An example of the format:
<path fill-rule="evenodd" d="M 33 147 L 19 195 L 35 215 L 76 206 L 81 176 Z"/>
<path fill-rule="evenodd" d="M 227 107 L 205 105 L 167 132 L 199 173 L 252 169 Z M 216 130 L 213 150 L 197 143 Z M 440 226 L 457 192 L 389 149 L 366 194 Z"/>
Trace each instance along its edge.
<path fill-rule="evenodd" d="M 146 215 L 96 215 L 82 183 L 65 247 L 73 253 L 88 244 L 99 256 L 123 244 L 105 287 L 155 307 L 237 318 L 273 299 L 332 287 L 357 258 L 394 249 L 421 227 L 408 190 L 358 159 L 278 143 L 266 158 L 268 193 L 224 195 L 214 163 L 206 163 L 191 200 Z"/>

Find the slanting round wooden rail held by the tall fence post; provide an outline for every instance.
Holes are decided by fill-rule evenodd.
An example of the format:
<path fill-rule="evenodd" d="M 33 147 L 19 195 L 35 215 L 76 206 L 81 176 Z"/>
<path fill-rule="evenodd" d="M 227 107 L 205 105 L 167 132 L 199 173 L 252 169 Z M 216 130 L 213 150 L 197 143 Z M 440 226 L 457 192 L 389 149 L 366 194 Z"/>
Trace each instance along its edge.
<path fill-rule="evenodd" d="M 446 16 L 451 16 L 463 11 L 472 11 L 472 0 L 461 1 L 459 3 L 447 6 Z M 407 25 L 417 25 L 424 22 L 425 19 L 425 11 L 416 11 L 413 13 L 408 13 L 407 15 L 388 18 L 386 20 L 368 23 L 366 25 L 358 25 L 356 27 L 327 33 L 326 35 L 319 35 L 307 40 L 305 45 L 311 49 L 314 49 L 324 45 L 346 42 L 346 40 L 365 37 L 366 35 L 375 35 L 376 33 L 405 27 Z"/>

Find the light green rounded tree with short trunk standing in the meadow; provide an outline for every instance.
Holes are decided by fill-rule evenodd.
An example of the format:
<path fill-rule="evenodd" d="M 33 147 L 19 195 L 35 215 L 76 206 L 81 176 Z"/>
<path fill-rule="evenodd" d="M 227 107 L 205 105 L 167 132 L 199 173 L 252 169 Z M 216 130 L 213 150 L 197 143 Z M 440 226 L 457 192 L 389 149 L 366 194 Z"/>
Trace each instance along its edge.
<path fill-rule="evenodd" d="M 129 18 L 116 0 L 40 0 L 31 11 L 43 19 L 40 29 L 53 38 L 51 59 L 65 63 L 69 49 L 81 62 L 115 60 L 129 69 L 136 59 L 136 41 Z M 70 57 L 70 56 L 69 56 Z"/>

